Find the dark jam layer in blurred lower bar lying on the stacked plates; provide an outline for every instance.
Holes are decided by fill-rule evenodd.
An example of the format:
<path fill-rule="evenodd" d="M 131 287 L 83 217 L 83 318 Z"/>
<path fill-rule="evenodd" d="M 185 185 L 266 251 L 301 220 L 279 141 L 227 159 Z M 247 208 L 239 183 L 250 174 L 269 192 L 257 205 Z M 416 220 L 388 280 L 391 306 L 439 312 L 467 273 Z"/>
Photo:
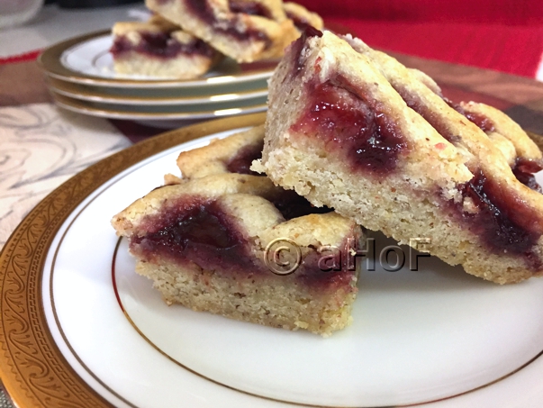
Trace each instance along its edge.
<path fill-rule="evenodd" d="M 126 37 L 115 39 L 110 52 L 118 57 L 128 51 L 136 51 L 160 59 L 175 58 L 179 54 L 204 55 L 213 57 L 213 50 L 201 40 L 191 41 L 188 44 L 173 39 L 167 32 L 140 32 L 141 41 L 133 44 Z"/>

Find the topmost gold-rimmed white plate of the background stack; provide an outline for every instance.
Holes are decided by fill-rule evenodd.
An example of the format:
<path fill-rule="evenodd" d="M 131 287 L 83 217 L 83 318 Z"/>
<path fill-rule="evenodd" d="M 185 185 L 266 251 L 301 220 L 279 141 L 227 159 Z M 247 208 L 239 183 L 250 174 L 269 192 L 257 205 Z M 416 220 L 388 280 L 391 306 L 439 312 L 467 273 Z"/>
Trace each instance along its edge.
<path fill-rule="evenodd" d="M 39 58 L 41 68 L 50 77 L 79 84 L 109 87 L 185 88 L 210 87 L 250 83 L 271 77 L 278 59 L 253 63 L 237 63 L 223 59 L 203 77 L 176 79 L 119 75 L 113 71 L 113 58 L 109 49 L 113 44 L 110 32 L 94 32 L 63 41 L 43 51 Z"/>

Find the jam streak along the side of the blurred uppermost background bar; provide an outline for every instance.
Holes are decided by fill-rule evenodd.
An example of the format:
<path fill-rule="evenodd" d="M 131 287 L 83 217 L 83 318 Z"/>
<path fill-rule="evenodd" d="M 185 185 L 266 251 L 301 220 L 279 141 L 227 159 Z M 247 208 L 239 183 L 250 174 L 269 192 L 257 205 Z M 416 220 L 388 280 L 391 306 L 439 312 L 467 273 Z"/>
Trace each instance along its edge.
<path fill-rule="evenodd" d="M 237 41 L 265 41 L 267 47 L 271 44 L 271 41 L 264 32 L 247 27 L 246 23 L 243 23 L 237 15 L 231 22 L 219 20 L 213 14 L 213 9 L 209 5 L 208 0 L 186 0 L 186 5 L 198 20 L 211 25 L 216 32 L 221 32 Z"/>

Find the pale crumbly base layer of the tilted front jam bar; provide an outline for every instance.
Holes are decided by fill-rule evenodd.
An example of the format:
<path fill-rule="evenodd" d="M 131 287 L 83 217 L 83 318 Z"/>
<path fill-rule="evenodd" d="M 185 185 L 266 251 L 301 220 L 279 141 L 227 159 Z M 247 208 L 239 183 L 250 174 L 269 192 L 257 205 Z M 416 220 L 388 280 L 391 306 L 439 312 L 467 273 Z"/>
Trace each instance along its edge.
<path fill-rule="evenodd" d="M 516 283 L 534 275 L 523 257 L 494 254 L 475 234 L 455 220 L 436 192 L 417 190 L 410 180 L 389 176 L 380 180 L 356 177 L 343 162 L 327 157 L 314 141 L 283 139 L 266 162 L 267 175 L 312 204 L 332 206 L 367 229 L 383 231 L 403 244 L 430 238 L 430 253 L 467 273 L 498 284 Z M 541 242 L 537 254 L 541 257 Z"/>

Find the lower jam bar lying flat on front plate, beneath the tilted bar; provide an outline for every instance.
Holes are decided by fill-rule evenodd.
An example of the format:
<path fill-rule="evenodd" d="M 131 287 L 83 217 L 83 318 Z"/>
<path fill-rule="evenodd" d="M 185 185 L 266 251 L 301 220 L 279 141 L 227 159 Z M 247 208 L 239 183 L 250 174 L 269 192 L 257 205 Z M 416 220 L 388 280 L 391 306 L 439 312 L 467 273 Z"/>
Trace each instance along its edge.
<path fill-rule="evenodd" d="M 341 261 L 341 270 L 322 271 L 319 259 L 330 249 L 346 251 L 348 240 L 359 246 L 362 231 L 337 213 L 312 213 L 310 205 L 303 210 L 308 214 L 296 213 L 288 205 L 299 206 L 302 198 L 274 186 L 267 177 L 229 172 L 224 163 L 244 149 L 261 146 L 263 137 L 263 128 L 258 127 L 181 153 L 177 163 L 182 178 L 168 175 L 167 181 L 176 184 L 162 186 L 135 201 L 113 217 L 113 228 L 129 239 L 131 253 L 137 258 L 136 271 L 153 280 L 168 304 L 328 336 L 351 321 L 357 271 L 348 270 Z M 213 230 L 219 238 L 210 236 L 209 240 L 237 237 L 225 247 L 222 263 L 213 260 L 213 251 L 198 258 L 197 253 L 175 255 L 184 253 L 179 247 L 173 252 L 149 249 L 157 231 L 160 236 L 183 240 L 180 233 L 168 229 L 176 224 L 186 227 L 186 208 L 195 218 L 211 208 L 211 217 L 222 220 Z M 176 212 L 179 214 L 172 215 Z M 174 221 L 164 222 L 167 217 Z M 195 224 L 196 239 L 187 241 L 187 247 L 209 249 L 208 243 L 198 241 L 199 235 L 205 236 L 205 228 L 205 222 Z M 221 235 L 224 228 L 229 232 Z M 265 260 L 267 246 L 277 239 L 292 240 L 300 249 L 300 265 L 287 275 L 276 275 Z M 166 241 L 159 247 L 168 245 Z M 232 248 L 238 252 L 235 260 L 229 261 Z"/>

